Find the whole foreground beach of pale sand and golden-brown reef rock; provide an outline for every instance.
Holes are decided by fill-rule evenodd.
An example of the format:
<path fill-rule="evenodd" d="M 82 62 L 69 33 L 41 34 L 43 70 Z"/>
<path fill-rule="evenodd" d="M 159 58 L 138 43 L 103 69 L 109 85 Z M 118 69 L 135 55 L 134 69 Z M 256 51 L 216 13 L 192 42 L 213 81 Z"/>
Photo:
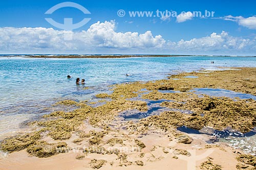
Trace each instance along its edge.
<path fill-rule="evenodd" d="M 52 107 L 76 109 L 44 115 L 29 123 L 30 131 L 1 141 L 0 169 L 255 169 L 255 156 L 216 136 L 177 130 L 253 130 L 255 100 L 196 94 L 194 89 L 256 95 L 255 75 L 256 68 L 202 69 L 116 84 L 109 87 L 112 93 L 97 94 L 98 102 L 57 102 Z M 150 109 L 148 101 L 160 101 L 163 111 L 133 119 Z"/>

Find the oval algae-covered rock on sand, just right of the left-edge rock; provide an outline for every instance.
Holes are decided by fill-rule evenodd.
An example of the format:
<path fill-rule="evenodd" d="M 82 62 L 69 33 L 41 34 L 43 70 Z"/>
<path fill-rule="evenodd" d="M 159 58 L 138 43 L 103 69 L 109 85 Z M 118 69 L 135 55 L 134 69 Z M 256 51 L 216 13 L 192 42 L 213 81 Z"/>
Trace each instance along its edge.
<path fill-rule="evenodd" d="M 65 147 L 67 147 L 67 143 L 65 142 L 47 143 L 46 141 L 37 141 L 36 143 L 29 145 L 27 152 L 39 158 L 46 158 L 67 152 Z"/>

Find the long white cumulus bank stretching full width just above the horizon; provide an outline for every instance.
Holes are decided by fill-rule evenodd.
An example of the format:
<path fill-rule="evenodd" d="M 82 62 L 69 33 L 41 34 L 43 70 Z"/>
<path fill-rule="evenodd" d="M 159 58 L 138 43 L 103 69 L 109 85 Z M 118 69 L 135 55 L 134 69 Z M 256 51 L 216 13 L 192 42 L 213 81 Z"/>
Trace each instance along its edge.
<path fill-rule="evenodd" d="M 256 39 L 212 33 L 174 42 L 151 31 L 117 32 L 115 21 L 96 22 L 80 32 L 52 28 L 0 28 L 1 53 L 256 53 Z M 71 36 L 72 40 L 65 37 Z"/>

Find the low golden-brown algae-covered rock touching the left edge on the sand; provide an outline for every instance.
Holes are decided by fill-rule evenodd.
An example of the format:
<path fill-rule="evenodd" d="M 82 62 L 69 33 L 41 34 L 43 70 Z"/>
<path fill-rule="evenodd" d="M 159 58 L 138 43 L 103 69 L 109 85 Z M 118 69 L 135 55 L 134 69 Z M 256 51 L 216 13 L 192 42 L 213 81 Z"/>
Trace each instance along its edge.
<path fill-rule="evenodd" d="M 17 135 L 4 139 L 0 143 L 0 149 L 4 152 L 14 152 L 26 149 L 29 145 L 34 144 L 41 138 L 39 132 Z"/>

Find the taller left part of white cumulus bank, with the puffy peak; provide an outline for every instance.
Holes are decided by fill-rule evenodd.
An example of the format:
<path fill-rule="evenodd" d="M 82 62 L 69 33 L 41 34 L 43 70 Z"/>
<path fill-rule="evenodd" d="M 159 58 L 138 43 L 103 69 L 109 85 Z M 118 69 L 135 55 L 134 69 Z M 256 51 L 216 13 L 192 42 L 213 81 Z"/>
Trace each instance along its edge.
<path fill-rule="evenodd" d="M 72 37 L 68 41 L 67 37 Z M 70 39 L 70 38 L 68 38 Z M 115 31 L 115 21 L 97 22 L 87 31 L 57 31 L 52 28 L 0 28 L 0 51 L 22 49 L 84 50 L 93 47 L 158 48 L 165 44 L 161 35 L 151 31 L 120 33 Z"/>

